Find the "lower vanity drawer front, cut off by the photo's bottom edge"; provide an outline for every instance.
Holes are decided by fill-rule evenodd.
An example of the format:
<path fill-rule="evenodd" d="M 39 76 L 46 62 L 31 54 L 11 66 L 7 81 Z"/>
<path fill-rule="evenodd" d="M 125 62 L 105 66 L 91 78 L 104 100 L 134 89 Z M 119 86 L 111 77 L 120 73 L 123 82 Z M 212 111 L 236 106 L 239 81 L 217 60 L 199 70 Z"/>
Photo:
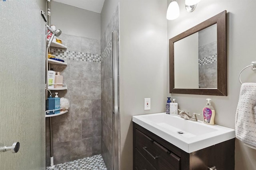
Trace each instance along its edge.
<path fill-rule="evenodd" d="M 135 149 L 135 156 L 135 170 L 156 170 L 137 149 Z"/>

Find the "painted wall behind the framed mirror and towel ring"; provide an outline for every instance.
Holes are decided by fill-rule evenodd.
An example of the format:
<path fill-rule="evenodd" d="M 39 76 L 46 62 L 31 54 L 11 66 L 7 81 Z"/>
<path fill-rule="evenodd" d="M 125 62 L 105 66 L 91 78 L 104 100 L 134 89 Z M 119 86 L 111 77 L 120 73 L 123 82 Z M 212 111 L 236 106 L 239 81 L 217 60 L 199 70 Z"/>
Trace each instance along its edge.
<path fill-rule="evenodd" d="M 177 1 L 180 6 L 180 17 L 168 21 L 168 39 L 186 31 L 187 29 L 201 23 L 212 16 L 227 10 L 227 51 L 228 51 L 228 96 L 202 96 L 188 94 L 169 94 L 176 98 L 179 108 L 187 112 L 202 112 L 206 104 L 206 98 L 212 99 L 215 107 L 215 123 L 225 127 L 235 127 L 235 114 L 238 104 L 240 82 L 238 75 L 240 71 L 255 61 L 256 53 L 256 18 L 254 0 L 204 0 L 199 2 L 196 10 L 192 13 L 186 12 L 184 0 Z M 167 62 L 168 63 L 168 62 Z M 168 67 L 167 67 L 168 68 Z M 168 73 L 168 69 L 167 69 Z M 255 72 L 248 69 L 242 74 L 243 82 L 255 82 Z M 169 75 L 167 75 L 169 82 Z M 167 90 L 169 86 L 167 86 Z M 167 91 L 169 92 L 169 90 Z M 202 120 L 202 116 L 199 117 Z M 256 167 L 256 150 L 244 146 L 236 140 L 235 169 L 252 170 Z"/>

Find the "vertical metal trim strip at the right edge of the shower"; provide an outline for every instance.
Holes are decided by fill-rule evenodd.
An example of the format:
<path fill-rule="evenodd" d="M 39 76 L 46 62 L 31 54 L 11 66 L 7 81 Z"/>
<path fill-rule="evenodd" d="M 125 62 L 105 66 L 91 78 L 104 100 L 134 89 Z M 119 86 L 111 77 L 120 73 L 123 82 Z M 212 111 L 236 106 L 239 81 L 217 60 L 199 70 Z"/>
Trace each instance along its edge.
<path fill-rule="evenodd" d="M 119 55 L 118 31 L 112 32 L 112 88 L 113 88 L 113 169 L 120 170 L 120 121 L 119 121 Z"/>

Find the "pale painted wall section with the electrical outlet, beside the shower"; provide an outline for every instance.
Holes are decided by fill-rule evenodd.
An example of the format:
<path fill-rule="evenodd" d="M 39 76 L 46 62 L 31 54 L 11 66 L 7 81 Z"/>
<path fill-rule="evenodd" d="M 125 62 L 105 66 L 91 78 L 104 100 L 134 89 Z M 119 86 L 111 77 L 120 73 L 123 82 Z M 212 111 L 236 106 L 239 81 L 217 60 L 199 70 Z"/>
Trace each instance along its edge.
<path fill-rule="evenodd" d="M 121 170 L 132 169 L 132 115 L 165 111 L 166 10 L 162 0 L 120 1 Z"/>

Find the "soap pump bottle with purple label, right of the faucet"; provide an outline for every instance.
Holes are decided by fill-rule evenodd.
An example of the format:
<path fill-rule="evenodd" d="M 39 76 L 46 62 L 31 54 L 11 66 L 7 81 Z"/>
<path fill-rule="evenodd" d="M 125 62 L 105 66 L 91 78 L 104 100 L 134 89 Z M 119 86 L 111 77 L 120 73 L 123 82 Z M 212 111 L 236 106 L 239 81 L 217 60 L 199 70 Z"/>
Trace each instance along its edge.
<path fill-rule="evenodd" d="M 208 102 L 206 103 L 206 106 L 204 106 L 203 109 L 204 123 L 214 125 L 215 110 L 210 104 L 211 99 L 206 100 L 208 100 Z"/>

